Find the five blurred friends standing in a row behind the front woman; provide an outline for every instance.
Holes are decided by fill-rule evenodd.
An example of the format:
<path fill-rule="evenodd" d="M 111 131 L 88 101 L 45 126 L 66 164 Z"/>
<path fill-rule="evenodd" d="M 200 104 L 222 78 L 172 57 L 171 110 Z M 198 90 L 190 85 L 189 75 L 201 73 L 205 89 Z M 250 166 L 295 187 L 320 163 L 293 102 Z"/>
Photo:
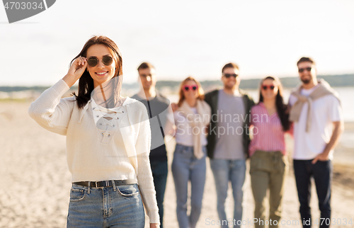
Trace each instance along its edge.
<path fill-rule="evenodd" d="M 175 125 L 172 135 L 176 139 L 176 149 L 171 171 L 176 186 L 179 227 L 196 227 L 199 220 L 205 186 L 206 156 L 209 156 L 215 178 L 217 213 L 221 227 L 228 227 L 230 221 L 224 207 L 229 182 L 234 197 L 234 227 L 240 227 L 241 222 L 237 224 L 236 221 L 242 221 L 247 158 L 250 158 L 254 218 L 257 219 L 255 227 L 265 227 L 265 224 L 278 227 L 285 178 L 289 169 L 285 134 L 295 139 L 292 161 L 302 223 L 305 223 L 304 227 L 311 226 L 308 221 L 312 218 L 309 200 L 313 177 L 321 219 L 325 220 L 320 227 L 329 227 L 331 160 L 333 149 L 343 131 L 341 103 L 336 91 L 326 81 L 316 78 L 313 59 L 302 57 L 297 67 L 302 84 L 292 91 L 288 104 L 283 101 L 282 84 L 275 76 L 266 76 L 261 80 L 259 101 L 255 104 L 245 91 L 239 89 L 239 67 L 234 63 L 222 67 L 222 89 L 205 94 L 199 81 L 193 77 L 188 76 L 181 82 L 178 103 L 172 104 L 173 119 L 169 118 L 169 113 L 165 113 L 165 118 L 160 117 L 163 119 L 161 126 L 165 122 L 166 125 L 171 124 L 170 121 Z M 161 98 L 155 89 L 155 68 L 144 62 L 137 70 L 142 90 L 132 98 L 144 100 L 147 110 L 153 111 L 158 106 L 156 98 Z M 167 99 L 160 101 L 169 102 Z M 164 130 L 163 127 L 161 130 Z M 166 132 L 171 132 L 169 127 L 165 128 Z M 150 162 L 162 224 L 168 172 L 164 144 L 152 149 Z M 190 215 L 187 215 L 188 181 L 191 185 Z M 265 218 L 267 203 L 269 217 Z"/>

